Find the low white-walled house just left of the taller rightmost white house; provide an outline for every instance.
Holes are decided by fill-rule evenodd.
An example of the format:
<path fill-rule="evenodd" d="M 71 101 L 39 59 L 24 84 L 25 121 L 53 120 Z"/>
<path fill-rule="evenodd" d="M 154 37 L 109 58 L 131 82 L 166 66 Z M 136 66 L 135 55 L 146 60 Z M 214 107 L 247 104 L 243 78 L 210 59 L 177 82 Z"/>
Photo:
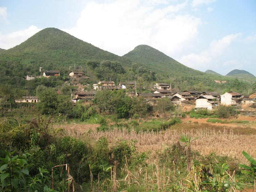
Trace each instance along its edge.
<path fill-rule="evenodd" d="M 219 105 L 220 99 L 213 97 L 211 95 L 200 95 L 195 100 L 196 100 L 195 109 L 212 110 L 213 108 Z"/>

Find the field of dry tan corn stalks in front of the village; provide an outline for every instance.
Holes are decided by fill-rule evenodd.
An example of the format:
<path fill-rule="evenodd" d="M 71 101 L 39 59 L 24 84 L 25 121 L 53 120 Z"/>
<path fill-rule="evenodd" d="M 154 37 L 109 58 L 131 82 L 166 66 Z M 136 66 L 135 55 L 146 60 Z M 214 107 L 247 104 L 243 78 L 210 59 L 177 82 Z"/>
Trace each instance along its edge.
<path fill-rule="evenodd" d="M 215 152 L 218 155 L 227 155 L 237 159 L 241 163 L 247 163 L 247 160 L 242 155 L 242 151 L 246 151 L 252 157 L 256 157 L 256 134 L 242 135 L 234 133 L 232 129 L 224 129 L 215 131 L 214 129 L 167 129 L 159 132 L 139 132 L 128 131 L 126 129 L 113 129 L 105 132 L 97 132 L 90 130 L 87 132 L 76 133 L 70 132 L 73 136 L 81 139 L 90 139 L 96 141 L 100 137 L 106 137 L 110 146 L 115 145 L 121 140 L 135 140 L 135 146 L 139 152 L 162 150 L 166 145 L 174 144 L 180 139 L 182 134 L 189 135 L 192 138 L 199 137 L 193 141 L 192 149 L 199 151 L 202 155 Z"/>

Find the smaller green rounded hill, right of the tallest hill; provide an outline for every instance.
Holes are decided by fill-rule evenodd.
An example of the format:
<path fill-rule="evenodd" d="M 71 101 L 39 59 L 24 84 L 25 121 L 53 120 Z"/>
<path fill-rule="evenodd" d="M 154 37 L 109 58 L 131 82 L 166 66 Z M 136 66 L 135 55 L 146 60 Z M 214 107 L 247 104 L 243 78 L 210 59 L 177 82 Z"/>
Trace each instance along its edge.
<path fill-rule="evenodd" d="M 148 45 L 138 45 L 122 57 L 134 61 L 142 67 L 150 68 L 160 75 L 177 77 L 188 74 L 191 76 L 204 74 L 201 71 L 182 65 L 163 52 Z"/>

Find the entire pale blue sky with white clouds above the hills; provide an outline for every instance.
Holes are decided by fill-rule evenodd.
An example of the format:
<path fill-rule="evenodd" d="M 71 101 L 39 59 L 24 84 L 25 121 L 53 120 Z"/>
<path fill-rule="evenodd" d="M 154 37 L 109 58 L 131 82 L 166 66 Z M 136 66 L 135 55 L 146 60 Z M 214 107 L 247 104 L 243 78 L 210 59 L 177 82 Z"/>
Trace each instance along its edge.
<path fill-rule="evenodd" d="M 54 27 L 119 56 L 140 44 L 180 63 L 256 76 L 255 0 L 1 0 L 0 48 Z"/>

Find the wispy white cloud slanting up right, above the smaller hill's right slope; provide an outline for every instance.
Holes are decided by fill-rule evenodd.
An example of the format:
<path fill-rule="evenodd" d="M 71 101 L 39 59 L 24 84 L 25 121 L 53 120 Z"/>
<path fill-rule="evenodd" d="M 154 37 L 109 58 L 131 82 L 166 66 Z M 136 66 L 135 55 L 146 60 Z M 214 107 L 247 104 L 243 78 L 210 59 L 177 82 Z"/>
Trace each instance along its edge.
<path fill-rule="evenodd" d="M 199 54 L 191 53 L 184 55 L 179 61 L 188 67 L 205 71 L 206 69 L 212 68 L 218 57 L 223 55 L 228 46 L 241 35 L 241 33 L 230 34 L 220 40 L 213 40 L 207 50 Z"/>

